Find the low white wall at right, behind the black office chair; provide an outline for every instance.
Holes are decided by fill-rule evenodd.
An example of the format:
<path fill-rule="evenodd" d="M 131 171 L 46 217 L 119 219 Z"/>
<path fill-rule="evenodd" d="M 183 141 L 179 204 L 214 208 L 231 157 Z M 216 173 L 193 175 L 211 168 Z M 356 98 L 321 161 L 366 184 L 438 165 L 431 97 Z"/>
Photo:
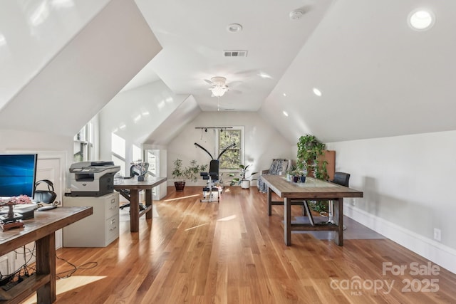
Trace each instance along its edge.
<path fill-rule="evenodd" d="M 332 142 L 336 171 L 351 174 L 363 199 L 346 214 L 456 272 L 456 131 Z M 442 241 L 434 241 L 434 228 Z"/>

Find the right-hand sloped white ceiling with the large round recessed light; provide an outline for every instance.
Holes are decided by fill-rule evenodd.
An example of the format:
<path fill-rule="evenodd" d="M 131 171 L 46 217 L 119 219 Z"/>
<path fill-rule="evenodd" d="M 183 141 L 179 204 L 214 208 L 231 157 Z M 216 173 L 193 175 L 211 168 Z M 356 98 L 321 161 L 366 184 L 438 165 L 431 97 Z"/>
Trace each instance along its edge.
<path fill-rule="evenodd" d="M 415 31 L 408 14 L 423 6 L 435 25 Z M 455 130 L 455 12 L 455 1 L 336 1 L 261 115 L 290 142 Z"/>

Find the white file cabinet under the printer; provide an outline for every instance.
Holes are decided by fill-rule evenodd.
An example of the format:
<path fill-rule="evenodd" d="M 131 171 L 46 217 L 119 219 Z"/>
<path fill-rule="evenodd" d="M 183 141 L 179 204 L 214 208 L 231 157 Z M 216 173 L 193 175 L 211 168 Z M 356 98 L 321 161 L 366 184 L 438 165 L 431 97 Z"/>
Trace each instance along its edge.
<path fill-rule="evenodd" d="M 105 247 L 119 237 L 119 193 L 65 196 L 63 206 L 90 206 L 93 214 L 63 228 L 63 247 Z"/>

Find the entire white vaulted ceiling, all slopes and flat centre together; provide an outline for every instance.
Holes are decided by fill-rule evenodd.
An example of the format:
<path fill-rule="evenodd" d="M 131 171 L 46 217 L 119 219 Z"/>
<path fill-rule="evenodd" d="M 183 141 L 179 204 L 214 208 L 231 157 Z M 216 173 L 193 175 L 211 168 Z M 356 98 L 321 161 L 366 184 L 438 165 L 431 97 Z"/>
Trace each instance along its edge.
<path fill-rule="evenodd" d="M 418 8 L 435 16 L 427 31 L 408 24 Z M 14 118 L 26 108 L 67 122 L 73 107 L 81 121 L 59 131 L 74 134 L 121 89 L 162 80 L 192 95 L 170 121 L 259 111 L 291 143 L 455 130 L 455 12 L 451 0 L 2 1 L 0 127 L 36 128 Z M 221 98 L 214 76 L 227 78 Z"/>

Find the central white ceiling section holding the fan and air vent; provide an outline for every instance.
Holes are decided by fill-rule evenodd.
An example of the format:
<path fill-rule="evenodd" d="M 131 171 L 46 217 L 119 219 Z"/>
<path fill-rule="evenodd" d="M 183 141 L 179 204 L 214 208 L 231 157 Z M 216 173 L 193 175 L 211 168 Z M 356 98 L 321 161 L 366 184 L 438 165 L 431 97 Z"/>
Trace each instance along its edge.
<path fill-rule="evenodd" d="M 177 94 L 193 95 L 203 111 L 257 111 L 325 14 L 331 0 L 136 0 L 163 46 L 151 68 Z M 291 11 L 304 16 L 291 20 Z M 240 23 L 242 31 L 227 31 Z M 245 50 L 247 57 L 225 57 Z M 263 77 L 261 77 L 263 75 Z M 204 80 L 227 78 L 230 90 L 211 97 Z"/>

